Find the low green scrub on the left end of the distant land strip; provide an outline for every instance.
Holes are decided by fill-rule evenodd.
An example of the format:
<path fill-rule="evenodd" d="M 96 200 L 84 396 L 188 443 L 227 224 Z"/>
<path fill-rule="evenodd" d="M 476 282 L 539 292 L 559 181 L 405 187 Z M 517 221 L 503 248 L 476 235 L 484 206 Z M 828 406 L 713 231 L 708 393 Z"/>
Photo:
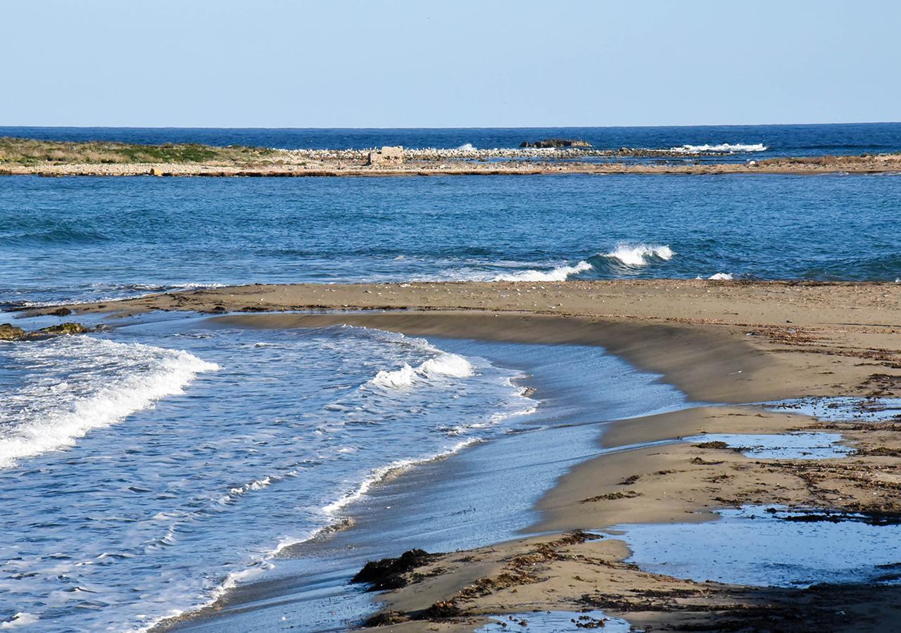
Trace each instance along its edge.
<path fill-rule="evenodd" d="M 232 146 L 227 148 L 195 143 L 176 145 L 140 145 L 90 141 L 85 143 L 55 140 L 0 138 L 0 165 L 65 165 L 70 163 L 211 163 L 251 164 L 269 158 L 275 149 Z"/>

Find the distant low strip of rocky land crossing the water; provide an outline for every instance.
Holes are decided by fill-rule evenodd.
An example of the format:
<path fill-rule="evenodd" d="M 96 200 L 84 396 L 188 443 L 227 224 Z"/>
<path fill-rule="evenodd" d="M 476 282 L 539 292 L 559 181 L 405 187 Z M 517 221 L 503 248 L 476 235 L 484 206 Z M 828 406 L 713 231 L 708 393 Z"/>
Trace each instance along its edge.
<path fill-rule="evenodd" d="M 878 174 L 901 154 L 734 160 L 666 149 L 272 149 L 0 139 L 0 176 L 499 176 Z M 717 158 L 710 161 L 709 158 Z"/>

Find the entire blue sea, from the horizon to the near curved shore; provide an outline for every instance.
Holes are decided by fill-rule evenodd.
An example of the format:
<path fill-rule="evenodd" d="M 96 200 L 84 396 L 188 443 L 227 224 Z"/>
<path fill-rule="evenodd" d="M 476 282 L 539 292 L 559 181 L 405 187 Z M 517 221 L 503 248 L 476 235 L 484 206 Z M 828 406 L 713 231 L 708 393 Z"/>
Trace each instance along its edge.
<path fill-rule="evenodd" d="M 0 136 L 287 149 L 509 148 L 559 137 L 702 161 L 901 151 L 901 123 L 5 127 Z M 23 318 L 28 306 L 252 283 L 901 283 L 898 176 L 0 176 L 0 322 L 66 320 Z M 97 330 L 0 342 L 4 629 L 146 630 L 241 587 L 304 574 L 315 591 L 295 589 L 306 598 L 279 617 L 301 630 L 346 628 L 371 609 L 347 583 L 361 553 L 511 538 L 535 520 L 542 491 L 596 453 L 606 422 L 692 405 L 601 348 L 350 326 L 250 330 L 197 314 L 78 318 Z M 532 476 L 498 464 L 529 464 Z M 509 476 L 459 484 L 487 473 Z M 414 499 L 418 511 L 384 519 Z M 375 506 L 380 518 L 367 522 Z M 351 523 L 358 531 L 339 530 Z M 338 556 L 345 566 L 333 564 L 336 542 L 355 552 Z"/>

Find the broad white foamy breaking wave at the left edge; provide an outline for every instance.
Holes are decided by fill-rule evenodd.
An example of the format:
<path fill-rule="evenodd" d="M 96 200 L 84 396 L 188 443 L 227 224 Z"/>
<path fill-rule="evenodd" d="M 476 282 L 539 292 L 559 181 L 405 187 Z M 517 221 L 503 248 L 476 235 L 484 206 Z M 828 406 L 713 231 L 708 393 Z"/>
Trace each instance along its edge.
<path fill-rule="evenodd" d="M 5 351 L 36 371 L 0 402 L 2 468 L 71 447 L 88 431 L 182 393 L 196 374 L 219 368 L 186 351 L 86 336 L 19 343 Z"/>

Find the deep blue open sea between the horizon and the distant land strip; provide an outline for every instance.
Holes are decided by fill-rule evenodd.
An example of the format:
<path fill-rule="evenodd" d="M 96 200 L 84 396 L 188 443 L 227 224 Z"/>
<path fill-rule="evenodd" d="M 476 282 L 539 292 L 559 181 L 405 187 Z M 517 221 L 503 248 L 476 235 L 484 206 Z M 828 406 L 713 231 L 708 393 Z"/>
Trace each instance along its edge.
<path fill-rule="evenodd" d="M 901 150 L 901 123 L 814 125 L 698 125 L 593 128 L 39 128 L 0 127 L 0 136 L 44 140 L 119 140 L 130 143 L 204 143 L 281 149 L 515 148 L 523 140 L 587 140 L 597 149 L 681 149 L 741 156 L 822 156 Z"/>

